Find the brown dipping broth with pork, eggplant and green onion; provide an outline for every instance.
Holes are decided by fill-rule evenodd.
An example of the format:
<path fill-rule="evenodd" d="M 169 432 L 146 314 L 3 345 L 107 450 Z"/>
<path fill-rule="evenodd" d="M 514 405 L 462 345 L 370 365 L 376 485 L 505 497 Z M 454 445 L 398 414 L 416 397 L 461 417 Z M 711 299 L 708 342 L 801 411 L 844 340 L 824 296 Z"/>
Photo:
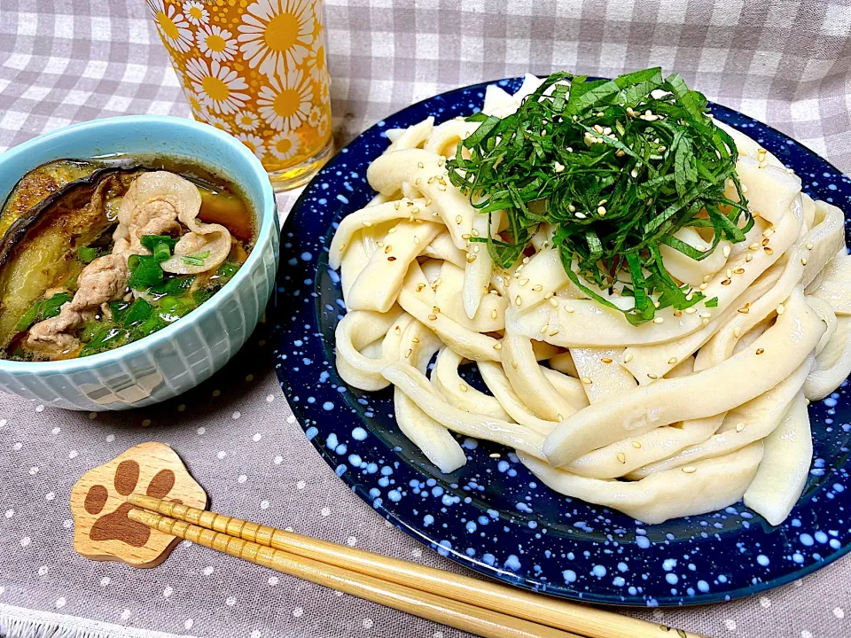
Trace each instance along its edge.
<path fill-rule="evenodd" d="M 164 159 L 60 159 L 0 211 L 0 358 L 98 354 L 179 321 L 245 263 L 235 184 Z"/>

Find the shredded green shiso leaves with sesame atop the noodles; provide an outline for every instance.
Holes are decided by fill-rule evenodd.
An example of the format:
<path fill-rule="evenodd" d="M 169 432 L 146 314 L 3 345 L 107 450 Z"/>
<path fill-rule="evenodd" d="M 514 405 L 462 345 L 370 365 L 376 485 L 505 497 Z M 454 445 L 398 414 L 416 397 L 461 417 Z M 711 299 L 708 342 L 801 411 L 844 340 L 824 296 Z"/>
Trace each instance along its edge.
<path fill-rule="evenodd" d="M 753 227 L 736 144 L 714 126 L 707 98 L 677 74 L 663 79 L 651 68 L 589 82 L 555 73 L 517 113 L 467 120 L 480 127 L 447 162 L 449 179 L 481 214 L 508 215 L 504 240 L 471 241 L 487 242 L 494 261 L 510 268 L 537 224 L 550 222 L 553 249 L 573 283 L 634 325 L 652 320 L 654 300 L 683 310 L 705 298 L 670 276 L 661 244 L 699 261 L 722 239 L 743 241 Z M 728 183 L 738 202 L 725 197 Z M 714 229 L 707 250 L 674 237 L 684 227 Z M 634 307 L 621 310 L 583 284 L 576 265 L 598 289 L 634 297 Z"/>

